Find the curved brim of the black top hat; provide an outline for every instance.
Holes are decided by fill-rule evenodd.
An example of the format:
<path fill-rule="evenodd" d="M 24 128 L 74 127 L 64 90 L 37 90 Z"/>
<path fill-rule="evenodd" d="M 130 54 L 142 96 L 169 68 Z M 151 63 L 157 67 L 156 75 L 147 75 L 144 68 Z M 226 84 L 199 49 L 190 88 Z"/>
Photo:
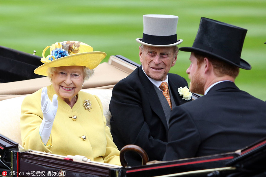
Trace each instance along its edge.
<path fill-rule="evenodd" d="M 206 51 L 206 50 L 202 50 L 202 49 L 199 49 L 199 48 L 195 48 L 195 47 L 180 47 L 179 50 L 181 51 L 184 51 L 184 52 L 195 52 L 195 53 L 199 53 L 199 54 L 202 54 L 202 55 L 207 55 L 209 57 L 213 57 L 213 58 L 217 58 L 217 59 L 220 59 L 220 60 L 223 60 L 227 63 L 231 63 L 232 65 L 235 65 L 239 68 L 242 68 L 242 69 L 246 69 L 246 70 L 250 70 L 251 69 L 251 65 L 246 62 L 245 60 L 241 59 L 240 58 L 240 63 L 237 64 L 237 63 L 233 63 L 232 61 L 226 59 L 226 58 L 223 58 L 219 55 L 216 55 L 214 53 L 211 53 L 209 51 Z"/>

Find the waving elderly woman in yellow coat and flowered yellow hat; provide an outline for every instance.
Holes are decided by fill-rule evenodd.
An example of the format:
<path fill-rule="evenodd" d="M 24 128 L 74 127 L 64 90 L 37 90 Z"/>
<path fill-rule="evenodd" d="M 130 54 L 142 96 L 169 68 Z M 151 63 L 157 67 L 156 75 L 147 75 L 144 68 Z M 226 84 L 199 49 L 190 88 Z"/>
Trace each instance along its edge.
<path fill-rule="evenodd" d="M 50 47 L 50 54 L 45 51 Z M 80 91 L 83 82 L 105 58 L 104 52 L 77 41 L 57 42 L 43 50 L 45 64 L 34 73 L 52 84 L 25 97 L 21 108 L 21 137 L 25 149 L 58 155 L 82 155 L 121 165 L 103 115 L 100 99 Z"/>

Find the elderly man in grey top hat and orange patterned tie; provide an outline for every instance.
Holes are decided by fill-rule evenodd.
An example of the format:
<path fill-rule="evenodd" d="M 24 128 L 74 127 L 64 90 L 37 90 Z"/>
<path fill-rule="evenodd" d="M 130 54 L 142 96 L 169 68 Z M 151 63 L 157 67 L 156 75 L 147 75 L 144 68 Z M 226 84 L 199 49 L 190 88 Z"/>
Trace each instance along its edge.
<path fill-rule="evenodd" d="M 143 38 L 136 39 L 142 44 L 139 47 L 142 65 L 114 86 L 109 105 L 111 133 L 118 149 L 138 145 L 150 160 L 163 159 L 171 106 L 191 100 L 191 95 L 183 99 L 178 92 L 179 87 L 188 87 L 187 81 L 168 73 L 176 63 L 176 45 L 182 42 L 176 37 L 177 20 L 172 15 L 143 16 Z M 168 83 L 169 97 L 159 88 L 164 82 Z M 137 154 L 127 152 L 126 160 L 130 166 L 141 165 Z"/>

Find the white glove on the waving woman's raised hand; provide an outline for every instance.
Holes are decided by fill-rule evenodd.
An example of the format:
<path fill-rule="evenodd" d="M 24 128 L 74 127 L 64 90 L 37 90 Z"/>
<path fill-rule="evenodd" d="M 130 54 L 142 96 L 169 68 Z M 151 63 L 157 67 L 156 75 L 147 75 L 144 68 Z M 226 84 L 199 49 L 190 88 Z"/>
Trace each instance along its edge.
<path fill-rule="evenodd" d="M 58 102 L 57 95 L 53 95 L 53 102 L 50 101 L 47 95 L 47 87 L 43 87 L 41 94 L 41 106 L 43 112 L 43 120 L 40 124 L 40 136 L 44 144 L 49 140 L 51 130 L 53 127 L 53 120 L 56 116 Z"/>

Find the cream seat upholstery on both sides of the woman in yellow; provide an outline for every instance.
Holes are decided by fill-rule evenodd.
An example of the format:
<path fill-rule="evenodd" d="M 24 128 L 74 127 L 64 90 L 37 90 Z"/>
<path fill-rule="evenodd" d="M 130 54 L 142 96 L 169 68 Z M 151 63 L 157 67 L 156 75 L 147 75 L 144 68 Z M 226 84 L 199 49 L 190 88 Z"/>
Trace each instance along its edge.
<path fill-rule="evenodd" d="M 111 89 L 82 89 L 87 93 L 97 95 L 103 104 L 103 114 L 106 117 L 107 125 L 110 127 L 111 113 L 109 112 L 109 103 L 112 95 Z M 9 139 L 21 143 L 20 135 L 20 112 L 21 103 L 25 96 L 6 99 L 0 101 L 0 134 Z M 110 127 L 111 128 L 111 127 Z"/>

